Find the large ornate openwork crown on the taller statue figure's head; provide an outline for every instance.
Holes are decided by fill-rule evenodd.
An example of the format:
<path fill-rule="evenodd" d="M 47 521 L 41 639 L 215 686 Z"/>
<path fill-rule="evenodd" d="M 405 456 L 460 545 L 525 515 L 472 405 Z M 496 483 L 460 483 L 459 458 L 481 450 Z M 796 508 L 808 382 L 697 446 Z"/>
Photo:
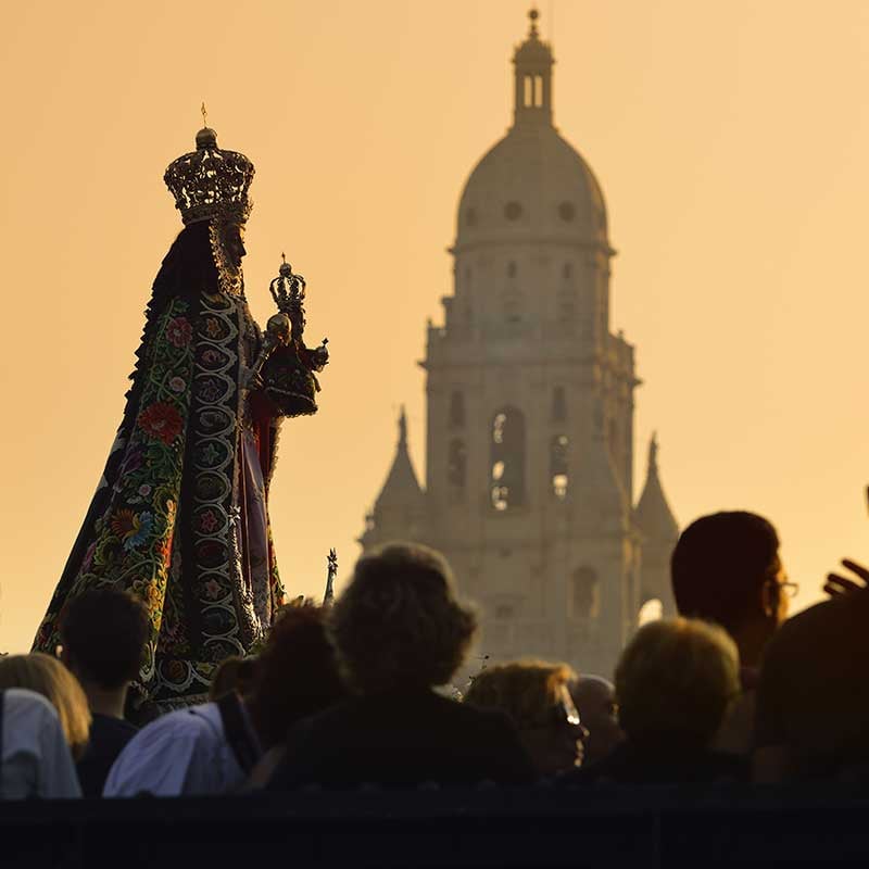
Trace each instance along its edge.
<path fill-rule="evenodd" d="M 197 134 L 197 150 L 169 163 L 163 180 L 185 226 L 212 219 L 243 224 L 251 213 L 248 189 L 253 173 L 244 154 L 218 148 L 217 134 L 203 127 Z"/>

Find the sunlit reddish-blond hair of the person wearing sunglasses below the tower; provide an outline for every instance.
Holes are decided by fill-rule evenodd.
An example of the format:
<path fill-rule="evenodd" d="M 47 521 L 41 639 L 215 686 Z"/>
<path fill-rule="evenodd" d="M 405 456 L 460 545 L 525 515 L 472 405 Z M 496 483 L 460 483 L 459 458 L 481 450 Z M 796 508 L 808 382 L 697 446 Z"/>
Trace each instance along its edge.
<path fill-rule="evenodd" d="M 521 730 L 546 723 L 546 714 L 563 700 L 576 673 L 566 664 L 516 660 L 495 664 L 477 673 L 465 694 L 465 703 L 501 709 Z"/>

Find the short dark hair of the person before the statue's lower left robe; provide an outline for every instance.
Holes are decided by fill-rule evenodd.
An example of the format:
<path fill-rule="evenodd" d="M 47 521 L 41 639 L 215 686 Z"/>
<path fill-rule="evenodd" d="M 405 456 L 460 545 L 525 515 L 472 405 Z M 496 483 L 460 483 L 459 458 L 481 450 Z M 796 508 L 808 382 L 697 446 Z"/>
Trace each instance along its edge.
<path fill-rule="evenodd" d="M 71 666 L 83 678 L 117 689 L 138 677 L 149 627 L 141 599 L 108 587 L 81 592 L 64 606 L 60 635 Z"/>

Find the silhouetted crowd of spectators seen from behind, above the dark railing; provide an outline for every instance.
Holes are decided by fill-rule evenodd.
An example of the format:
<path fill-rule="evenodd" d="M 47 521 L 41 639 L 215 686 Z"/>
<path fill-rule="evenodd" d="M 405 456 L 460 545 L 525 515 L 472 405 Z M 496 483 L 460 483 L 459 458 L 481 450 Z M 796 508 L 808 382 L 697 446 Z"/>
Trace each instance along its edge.
<path fill-rule="evenodd" d="M 861 780 L 869 570 L 843 566 L 829 600 L 785 620 L 796 587 L 772 525 L 704 516 L 672 553 L 680 615 L 642 626 L 612 682 L 516 660 L 457 685 L 475 610 L 439 553 L 391 544 L 360 558 L 333 605 L 281 610 L 259 655 L 216 668 L 209 703 L 136 725 L 148 613 L 88 591 L 56 657 L 0 659 L 1 793 Z"/>

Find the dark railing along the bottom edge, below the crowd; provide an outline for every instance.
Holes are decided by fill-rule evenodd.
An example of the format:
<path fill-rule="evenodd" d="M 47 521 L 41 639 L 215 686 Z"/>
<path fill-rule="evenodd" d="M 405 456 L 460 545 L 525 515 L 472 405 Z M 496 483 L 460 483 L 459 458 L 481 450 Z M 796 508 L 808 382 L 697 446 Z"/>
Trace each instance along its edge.
<path fill-rule="evenodd" d="M 305 791 L 0 806 L 2 867 L 703 867 L 869 860 L 848 788 Z"/>

